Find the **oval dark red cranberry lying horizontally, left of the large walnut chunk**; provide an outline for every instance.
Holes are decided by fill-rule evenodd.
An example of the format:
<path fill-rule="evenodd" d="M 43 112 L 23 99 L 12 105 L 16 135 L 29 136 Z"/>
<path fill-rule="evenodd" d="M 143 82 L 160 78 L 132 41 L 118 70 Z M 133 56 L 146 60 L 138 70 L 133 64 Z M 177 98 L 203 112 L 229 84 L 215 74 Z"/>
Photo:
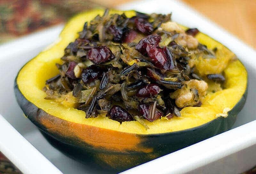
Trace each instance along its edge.
<path fill-rule="evenodd" d="M 147 84 L 140 88 L 136 94 L 137 97 L 151 97 L 158 94 L 161 91 L 158 85 L 156 84 Z"/>

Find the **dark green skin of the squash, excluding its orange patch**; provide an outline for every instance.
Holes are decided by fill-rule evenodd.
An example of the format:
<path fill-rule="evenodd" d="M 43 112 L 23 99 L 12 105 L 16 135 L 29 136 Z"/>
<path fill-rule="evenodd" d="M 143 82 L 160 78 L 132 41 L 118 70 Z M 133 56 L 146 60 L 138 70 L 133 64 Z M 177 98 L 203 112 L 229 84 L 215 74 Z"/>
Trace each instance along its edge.
<path fill-rule="evenodd" d="M 38 120 L 40 117 L 49 117 L 50 119 L 55 116 L 52 116 L 46 113 L 44 110 L 36 107 L 23 96 L 17 85 L 17 77 L 14 83 L 14 92 L 17 102 L 23 110 L 24 114 L 39 128 L 39 130 L 53 146 L 80 162 L 92 166 L 100 164 L 102 168 L 109 169 L 109 171 L 112 172 L 120 172 L 132 168 L 165 154 L 169 154 L 181 148 L 195 144 L 204 139 L 213 137 L 222 132 L 228 131 L 235 123 L 236 115 L 244 107 L 247 97 L 246 87 L 242 98 L 228 112 L 228 116 L 225 118 L 219 117 L 203 125 L 182 131 L 150 135 L 137 134 L 136 136 L 142 140 L 141 146 L 153 148 L 153 152 L 151 153 L 142 153 L 136 151 L 121 153 L 108 149 L 95 148 L 88 144 L 80 143 L 79 139 L 70 139 L 59 134 L 49 132 L 43 125 L 38 122 Z M 55 117 L 55 119 L 56 118 L 57 117 Z M 58 120 L 60 120 L 60 123 L 63 121 L 60 118 L 58 118 Z M 106 158 L 108 158 L 108 155 L 110 155 L 111 158 L 115 157 L 113 158 L 113 160 L 116 161 L 115 165 L 109 165 L 104 160 L 100 159 L 98 156 L 99 154 L 105 155 Z M 130 159 L 130 161 L 128 162 L 127 159 Z M 96 167 L 99 166 L 97 165 Z"/>

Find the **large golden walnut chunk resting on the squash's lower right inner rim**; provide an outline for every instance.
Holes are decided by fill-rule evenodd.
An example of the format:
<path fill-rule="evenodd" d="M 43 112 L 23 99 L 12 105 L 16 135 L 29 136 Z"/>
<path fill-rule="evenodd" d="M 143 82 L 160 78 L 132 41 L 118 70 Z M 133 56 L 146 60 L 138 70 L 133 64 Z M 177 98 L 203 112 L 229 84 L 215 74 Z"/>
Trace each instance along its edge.
<path fill-rule="evenodd" d="M 189 80 L 183 83 L 181 89 L 170 94 L 178 107 L 195 106 L 206 95 L 208 85 L 203 80 Z"/>

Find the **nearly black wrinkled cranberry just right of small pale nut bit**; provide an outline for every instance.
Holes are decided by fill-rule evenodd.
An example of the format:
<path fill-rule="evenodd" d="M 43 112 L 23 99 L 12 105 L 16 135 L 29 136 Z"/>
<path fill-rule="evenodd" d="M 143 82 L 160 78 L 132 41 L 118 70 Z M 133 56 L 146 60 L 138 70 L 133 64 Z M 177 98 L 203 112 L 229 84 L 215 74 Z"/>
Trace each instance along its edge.
<path fill-rule="evenodd" d="M 102 72 L 101 69 L 96 65 L 87 67 L 82 72 L 82 80 L 84 83 L 92 82 L 98 79 L 102 75 L 101 72 Z"/>

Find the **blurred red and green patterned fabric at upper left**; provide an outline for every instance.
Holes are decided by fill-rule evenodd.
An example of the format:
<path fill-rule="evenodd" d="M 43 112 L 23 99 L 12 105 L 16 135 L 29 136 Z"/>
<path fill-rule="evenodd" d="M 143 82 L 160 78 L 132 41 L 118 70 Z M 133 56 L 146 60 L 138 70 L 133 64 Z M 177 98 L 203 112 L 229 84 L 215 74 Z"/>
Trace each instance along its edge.
<path fill-rule="evenodd" d="M 88 0 L 0 0 L 0 43 L 98 6 Z"/>

